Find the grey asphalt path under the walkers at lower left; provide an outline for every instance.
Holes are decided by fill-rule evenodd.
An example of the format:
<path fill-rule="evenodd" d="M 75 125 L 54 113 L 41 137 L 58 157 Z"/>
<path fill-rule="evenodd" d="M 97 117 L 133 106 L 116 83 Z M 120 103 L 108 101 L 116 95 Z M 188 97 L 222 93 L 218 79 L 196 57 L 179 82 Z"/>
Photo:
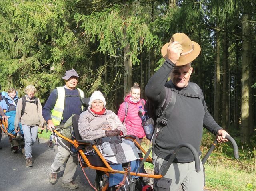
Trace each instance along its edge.
<path fill-rule="evenodd" d="M 2 134 L 0 142 L 0 191 L 70 191 L 61 187 L 64 167 L 60 168 L 57 181 L 54 185 L 49 183 L 50 166 L 54 160 L 58 148 L 50 149 L 46 146 L 46 141 L 42 138 L 39 143 L 32 146 L 33 167 L 26 167 L 26 160 L 21 151 L 13 153 L 10 150 L 8 136 Z M 94 185 L 95 170 L 84 169 L 89 181 Z M 88 183 L 80 166 L 78 165 L 74 175 L 74 181 L 79 187 L 76 191 L 95 191 Z M 177 191 L 182 191 L 181 187 Z"/>

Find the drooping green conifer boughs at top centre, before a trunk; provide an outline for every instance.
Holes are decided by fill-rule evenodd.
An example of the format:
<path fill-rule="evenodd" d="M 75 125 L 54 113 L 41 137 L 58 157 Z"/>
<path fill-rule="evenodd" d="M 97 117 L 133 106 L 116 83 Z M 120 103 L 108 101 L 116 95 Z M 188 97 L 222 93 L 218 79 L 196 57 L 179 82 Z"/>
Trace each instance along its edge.
<path fill-rule="evenodd" d="M 75 15 L 76 21 L 82 22 L 82 35 L 89 37 L 92 43 L 99 42 L 98 50 L 103 54 L 117 55 L 118 49 L 130 45 L 132 63 L 139 63 L 138 51 L 142 51 L 145 39 L 150 43 L 152 34 L 144 18 L 138 17 L 138 4 L 114 5 L 90 15 Z"/>

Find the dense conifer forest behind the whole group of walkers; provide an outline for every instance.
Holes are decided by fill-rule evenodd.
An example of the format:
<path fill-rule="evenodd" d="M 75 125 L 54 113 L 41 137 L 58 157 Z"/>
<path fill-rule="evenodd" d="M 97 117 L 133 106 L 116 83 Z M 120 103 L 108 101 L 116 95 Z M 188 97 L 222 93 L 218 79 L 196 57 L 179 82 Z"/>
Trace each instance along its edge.
<path fill-rule="evenodd" d="M 143 90 L 163 63 L 162 45 L 186 33 L 201 46 L 191 81 L 214 119 L 255 136 L 254 0 L 0 0 L 0 83 L 24 94 L 33 84 L 43 104 L 66 70 L 87 96 L 99 89 L 117 111 L 134 82 Z"/>

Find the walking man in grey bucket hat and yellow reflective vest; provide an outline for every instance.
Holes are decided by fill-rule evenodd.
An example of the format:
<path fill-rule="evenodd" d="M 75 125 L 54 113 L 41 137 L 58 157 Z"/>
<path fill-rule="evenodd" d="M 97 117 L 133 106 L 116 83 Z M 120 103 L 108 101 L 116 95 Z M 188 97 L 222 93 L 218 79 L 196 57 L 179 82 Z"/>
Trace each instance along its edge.
<path fill-rule="evenodd" d="M 80 97 L 84 97 L 84 92 L 76 88 L 78 78 L 80 77 L 74 69 L 66 71 L 65 76 L 62 77 L 65 85 L 54 89 L 46 101 L 42 114 L 50 131 L 57 125 L 64 125 L 72 114 L 81 114 L 83 107 Z M 61 186 L 76 189 L 78 184 L 73 182 L 73 177 L 78 165 L 78 158 L 72 156 L 70 150 L 67 149 L 70 148 L 69 142 L 58 138 L 58 143 L 58 153 L 50 167 L 49 181 L 52 184 L 56 182 L 57 173 L 66 162 Z"/>

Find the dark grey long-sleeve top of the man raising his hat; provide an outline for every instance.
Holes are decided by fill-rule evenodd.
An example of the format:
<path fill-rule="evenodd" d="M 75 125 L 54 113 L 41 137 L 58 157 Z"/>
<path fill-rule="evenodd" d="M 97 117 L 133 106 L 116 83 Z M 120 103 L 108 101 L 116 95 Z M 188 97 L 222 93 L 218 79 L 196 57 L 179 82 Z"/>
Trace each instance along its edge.
<path fill-rule="evenodd" d="M 160 106 L 165 98 L 164 86 L 171 83 L 170 81 L 166 83 L 166 81 L 174 66 L 167 59 L 146 85 L 146 96 L 156 106 Z M 198 87 L 198 85 L 196 86 Z M 191 86 L 176 89 L 196 94 Z M 200 90 L 200 99 L 177 94 L 174 108 L 168 114 L 168 123 L 158 132 L 156 137 L 154 152 L 160 158 L 168 160 L 174 148 L 181 143 L 191 144 L 200 154 L 202 127 L 204 126 L 213 134 L 217 134 L 217 131 L 222 129 L 209 114 L 200 87 L 198 87 L 198 90 Z M 172 91 L 170 96 L 172 96 Z M 194 156 L 187 148 L 181 148 L 174 161 L 180 163 L 192 162 Z"/>

